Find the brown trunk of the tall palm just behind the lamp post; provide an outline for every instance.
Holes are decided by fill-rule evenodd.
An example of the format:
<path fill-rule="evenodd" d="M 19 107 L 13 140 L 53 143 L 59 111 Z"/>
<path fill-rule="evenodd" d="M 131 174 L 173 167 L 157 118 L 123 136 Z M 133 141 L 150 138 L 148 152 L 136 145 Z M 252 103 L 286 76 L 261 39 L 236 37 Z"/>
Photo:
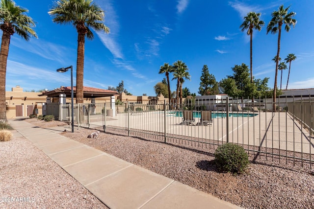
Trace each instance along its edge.
<path fill-rule="evenodd" d="M 85 34 L 78 33 L 78 59 L 77 59 L 77 103 L 83 103 L 83 75 L 84 75 Z"/>

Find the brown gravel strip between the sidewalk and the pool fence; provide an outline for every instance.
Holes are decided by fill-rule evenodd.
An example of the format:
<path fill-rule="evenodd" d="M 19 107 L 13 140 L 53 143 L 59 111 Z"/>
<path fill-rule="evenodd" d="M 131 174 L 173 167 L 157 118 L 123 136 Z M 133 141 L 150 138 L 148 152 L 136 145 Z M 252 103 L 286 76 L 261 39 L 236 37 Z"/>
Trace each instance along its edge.
<path fill-rule="evenodd" d="M 313 168 L 260 160 L 234 176 L 217 172 L 213 155 L 193 147 L 106 133 L 88 139 L 92 132 L 61 134 L 243 208 L 314 208 Z"/>

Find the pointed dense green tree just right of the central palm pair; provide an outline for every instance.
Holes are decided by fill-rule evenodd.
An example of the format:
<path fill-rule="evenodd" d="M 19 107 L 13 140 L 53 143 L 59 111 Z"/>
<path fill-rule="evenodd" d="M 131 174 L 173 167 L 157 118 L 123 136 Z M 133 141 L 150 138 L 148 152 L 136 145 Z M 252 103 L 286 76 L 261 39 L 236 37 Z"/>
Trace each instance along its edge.
<path fill-rule="evenodd" d="M 198 93 L 201 95 L 214 95 L 217 94 L 218 91 L 218 82 L 214 75 L 209 74 L 209 70 L 207 65 L 203 66 L 201 82 Z"/>

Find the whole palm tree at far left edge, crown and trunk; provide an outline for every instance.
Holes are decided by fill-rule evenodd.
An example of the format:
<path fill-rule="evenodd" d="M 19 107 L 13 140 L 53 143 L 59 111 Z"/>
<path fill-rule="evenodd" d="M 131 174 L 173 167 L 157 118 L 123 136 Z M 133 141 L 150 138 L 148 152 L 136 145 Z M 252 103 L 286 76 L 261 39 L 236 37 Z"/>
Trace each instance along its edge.
<path fill-rule="evenodd" d="M 26 41 L 30 37 L 37 38 L 33 20 L 25 15 L 27 9 L 15 4 L 13 0 L 0 1 L 0 29 L 2 41 L 0 50 L 0 120 L 6 121 L 5 75 L 11 36 L 16 33 Z"/>

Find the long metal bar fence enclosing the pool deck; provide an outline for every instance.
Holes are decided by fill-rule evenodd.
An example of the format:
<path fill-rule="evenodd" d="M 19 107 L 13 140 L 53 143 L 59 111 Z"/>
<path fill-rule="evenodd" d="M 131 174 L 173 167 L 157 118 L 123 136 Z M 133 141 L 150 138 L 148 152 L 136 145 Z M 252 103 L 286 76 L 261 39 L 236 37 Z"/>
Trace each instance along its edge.
<path fill-rule="evenodd" d="M 207 99 L 169 105 L 124 102 L 77 104 L 78 127 L 104 130 L 191 147 L 213 153 L 221 144 L 241 145 L 253 160 L 300 163 L 312 168 L 313 98 Z M 276 106 L 276 112 L 272 108 Z M 182 107 L 172 109 L 169 107 Z M 240 110 L 241 109 L 241 110 Z M 192 123 L 185 123 L 183 110 L 190 110 Z M 211 110 L 210 125 L 203 125 L 201 112 Z"/>

